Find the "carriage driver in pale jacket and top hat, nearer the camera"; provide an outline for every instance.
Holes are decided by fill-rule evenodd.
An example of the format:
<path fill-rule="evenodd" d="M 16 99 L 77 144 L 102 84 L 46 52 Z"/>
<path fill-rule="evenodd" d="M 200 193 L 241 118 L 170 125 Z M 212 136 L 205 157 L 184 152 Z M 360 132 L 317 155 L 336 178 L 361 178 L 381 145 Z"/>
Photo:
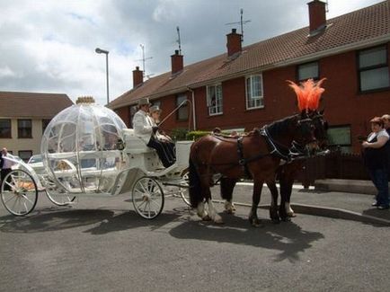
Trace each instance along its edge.
<path fill-rule="evenodd" d="M 142 98 L 138 101 L 139 110 L 133 118 L 134 133 L 146 143 L 146 146 L 155 148 L 164 167 L 169 167 L 174 164 L 174 160 L 173 157 L 170 157 L 170 155 L 166 153 L 164 142 L 155 137 L 158 127 L 148 115 L 150 105 L 149 99 L 147 98 Z"/>

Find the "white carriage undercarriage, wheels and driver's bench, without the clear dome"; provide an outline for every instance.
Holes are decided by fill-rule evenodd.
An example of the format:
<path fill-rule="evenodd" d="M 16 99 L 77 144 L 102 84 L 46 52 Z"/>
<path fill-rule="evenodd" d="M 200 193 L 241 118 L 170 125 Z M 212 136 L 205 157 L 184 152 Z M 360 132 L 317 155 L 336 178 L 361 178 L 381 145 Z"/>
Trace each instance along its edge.
<path fill-rule="evenodd" d="M 130 192 L 137 214 L 146 219 L 153 219 L 161 214 L 164 208 L 164 192 L 169 192 L 170 196 L 181 197 L 190 206 L 186 173 L 192 141 L 177 142 L 176 163 L 164 168 L 155 150 L 147 147 L 136 137 L 133 129 L 125 128 L 122 131 L 125 141 L 122 150 L 101 151 L 106 157 L 113 151 L 116 155 L 118 151 L 120 155 L 125 155 L 127 163 L 121 165 L 120 171 L 76 167 L 66 159 L 66 155 L 75 155 L 74 153 L 53 154 L 61 156 L 56 158 L 63 167 L 51 173 L 47 171 L 37 173 L 31 165 L 10 158 L 15 165 L 1 183 L 1 200 L 4 207 L 14 216 L 25 216 L 35 208 L 40 191 L 45 191 L 49 200 L 58 206 L 69 205 L 77 197 L 111 197 Z M 88 157 L 89 154 L 91 151 L 77 155 Z M 101 175 L 102 180 L 111 180 L 113 187 L 104 190 L 102 183 L 99 182 L 97 189 L 94 190 L 86 190 L 83 185 L 65 188 L 61 181 L 62 178 L 72 175 L 93 178 L 95 174 Z M 173 187 L 174 190 L 167 191 L 167 186 Z"/>

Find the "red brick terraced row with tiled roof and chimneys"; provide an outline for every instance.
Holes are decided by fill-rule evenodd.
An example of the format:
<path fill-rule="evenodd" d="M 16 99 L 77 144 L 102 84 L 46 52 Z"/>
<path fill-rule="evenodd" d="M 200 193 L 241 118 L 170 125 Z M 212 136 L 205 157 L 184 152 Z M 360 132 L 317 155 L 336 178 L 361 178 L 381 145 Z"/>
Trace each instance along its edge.
<path fill-rule="evenodd" d="M 178 51 L 172 70 L 144 82 L 133 71 L 133 88 L 110 103 L 131 127 L 137 100 L 148 97 L 163 118 L 183 100 L 190 102 L 163 128 L 261 127 L 297 112 L 286 80 L 326 77 L 322 107 L 332 144 L 359 152 L 357 137 L 368 120 L 390 113 L 389 0 L 326 20 L 325 4 L 308 3 L 309 26 L 242 48 L 241 35 L 226 35 L 227 52 L 183 66 Z"/>

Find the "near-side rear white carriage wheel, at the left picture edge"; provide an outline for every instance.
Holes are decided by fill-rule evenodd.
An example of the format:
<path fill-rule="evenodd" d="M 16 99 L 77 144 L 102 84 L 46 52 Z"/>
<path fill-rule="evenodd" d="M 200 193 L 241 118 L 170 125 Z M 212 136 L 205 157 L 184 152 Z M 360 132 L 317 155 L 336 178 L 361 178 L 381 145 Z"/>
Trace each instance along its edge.
<path fill-rule="evenodd" d="M 37 184 L 29 173 L 13 170 L 2 181 L 1 198 L 4 207 L 14 216 L 27 215 L 37 204 Z"/>

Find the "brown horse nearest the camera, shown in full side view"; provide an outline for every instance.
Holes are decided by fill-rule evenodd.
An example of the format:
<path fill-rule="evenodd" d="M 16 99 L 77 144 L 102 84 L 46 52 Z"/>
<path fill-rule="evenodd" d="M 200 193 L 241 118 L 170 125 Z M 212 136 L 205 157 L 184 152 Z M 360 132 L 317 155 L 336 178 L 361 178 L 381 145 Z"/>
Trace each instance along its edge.
<path fill-rule="evenodd" d="M 211 201 L 210 186 L 213 175 L 221 174 L 232 181 L 250 176 L 253 178 L 253 204 L 249 221 L 259 226 L 257 207 L 260 203 L 262 183 L 275 180 L 280 159 L 288 160 L 293 141 L 306 145 L 315 141 L 315 127 L 305 111 L 280 119 L 261 129 L 253 129 L 239 139 L 216 136 L 201 137 L 191 146 L 190 199 L 199 217 L 222 223 Z M 271 190 L 278 197 L 278 190 Z M 275 194 L 274 194 L 275 192 Z M 208 212 L 205 209 L 208 203 Z"/>

